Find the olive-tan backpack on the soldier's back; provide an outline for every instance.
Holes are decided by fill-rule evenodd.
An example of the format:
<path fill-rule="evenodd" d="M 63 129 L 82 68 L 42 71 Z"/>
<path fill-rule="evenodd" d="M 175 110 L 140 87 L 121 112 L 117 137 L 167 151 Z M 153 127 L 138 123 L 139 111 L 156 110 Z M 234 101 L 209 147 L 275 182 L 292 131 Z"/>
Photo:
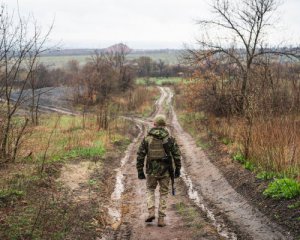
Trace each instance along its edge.
<path fill-rule="evenodd" d="M 166 142 L 168 142 L 168 137 L 164 139 L 159 139 L 150 136 L 148 140 L 148 153 L 147 153 L 148 159 L 157 160 L 166 157 L 167 154 L 163 147 L 163 144 Z"/>

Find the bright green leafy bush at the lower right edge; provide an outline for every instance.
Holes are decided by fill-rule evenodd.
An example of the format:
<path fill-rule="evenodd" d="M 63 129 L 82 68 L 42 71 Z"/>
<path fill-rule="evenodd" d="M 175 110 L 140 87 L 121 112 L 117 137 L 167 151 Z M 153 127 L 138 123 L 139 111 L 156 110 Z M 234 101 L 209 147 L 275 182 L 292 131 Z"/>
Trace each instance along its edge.
<path fill-rule="evenodd" d="M 300 195 L 300 183 L 290 178 L 276 179 L 263 194 L 275 199 L 292 199 Z"/>

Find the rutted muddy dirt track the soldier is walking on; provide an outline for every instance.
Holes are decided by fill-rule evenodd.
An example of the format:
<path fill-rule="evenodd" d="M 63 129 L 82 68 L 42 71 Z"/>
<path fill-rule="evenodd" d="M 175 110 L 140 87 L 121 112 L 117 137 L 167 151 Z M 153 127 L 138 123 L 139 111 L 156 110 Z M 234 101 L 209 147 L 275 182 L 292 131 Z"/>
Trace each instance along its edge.
<path fill-rule="evenodd" d="M 172 108 L 172 91 L 161 87 L 160 92 L 156 111 L 150 118 L 131 118 L 140 134 L 116 169 L 115 191 L 108 206 L 115 230 L 102 239 L 289 239 L 279 226 L 230 186 L 193 138 L 181 128 Z M 176 181 L 177 196 L 169 196 L 167 226 L 158 228 L 156 222 L 144 223 L 147 216 L 146 184 L 137 179 L 135 161 L 138 144 L 152 126 L 153 118 L 157 114 L 166 114 L 166 109 L 172 123 L 170 130 L 183 153 L 183 169 L 181 179 Z M 176 206 L 183 203 L 198 214 L 200 229 L 189 226 L 187 219 L 179 214 Z"/>

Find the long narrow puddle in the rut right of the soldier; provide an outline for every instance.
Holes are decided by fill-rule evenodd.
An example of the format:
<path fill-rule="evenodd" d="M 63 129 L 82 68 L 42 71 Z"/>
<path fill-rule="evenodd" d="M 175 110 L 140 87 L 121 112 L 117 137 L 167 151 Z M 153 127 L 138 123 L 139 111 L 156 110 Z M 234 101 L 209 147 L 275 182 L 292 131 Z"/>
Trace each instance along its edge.
<path fill-rule="evenodd" d="M 194 189 L 193 182 L 191 178 L 185 173 L 184 168 L 182 167 L 181 178 L 184 181 L 185 185 L 188 188 L 189 198 L 204 212 L 212 224 L 216 227 L 220 236 L 230 239 L 237 240 L 237 236 L 232 232 L 223 222 L 220 220 L 217 221 L 213 212 L 204 205 L 204 200 L 201 195 Z"/>

